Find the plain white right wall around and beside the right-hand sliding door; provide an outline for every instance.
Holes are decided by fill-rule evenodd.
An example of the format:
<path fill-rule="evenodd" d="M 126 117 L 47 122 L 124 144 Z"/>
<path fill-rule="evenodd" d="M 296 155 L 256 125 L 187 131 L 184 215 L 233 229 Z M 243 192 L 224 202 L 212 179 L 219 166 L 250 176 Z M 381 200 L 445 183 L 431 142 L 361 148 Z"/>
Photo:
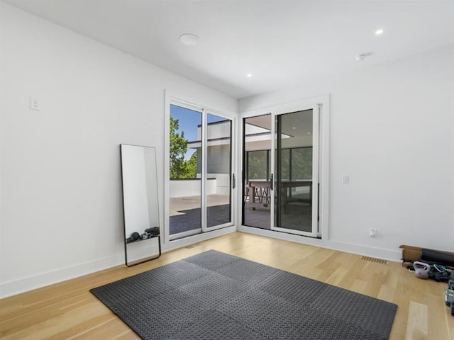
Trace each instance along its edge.
<path fill-rule="evenodd" d="M 240 112 L 325 94 L 331 154 L 323 245 L 389 259 L 399 259 L 400 244 L 453 251 L 454 46 L 244 98 Z"/>

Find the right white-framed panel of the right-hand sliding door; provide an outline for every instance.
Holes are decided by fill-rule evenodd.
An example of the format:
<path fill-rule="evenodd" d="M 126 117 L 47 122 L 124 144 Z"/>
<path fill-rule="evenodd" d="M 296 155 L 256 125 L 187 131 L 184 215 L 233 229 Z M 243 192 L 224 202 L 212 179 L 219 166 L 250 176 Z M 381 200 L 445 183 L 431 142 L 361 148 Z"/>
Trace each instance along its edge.
<path fill-rule="evenodd" d="M 275 115 L 275 222 L 272 229 L 316 237 L 318 226 L 318 115 Z"/>

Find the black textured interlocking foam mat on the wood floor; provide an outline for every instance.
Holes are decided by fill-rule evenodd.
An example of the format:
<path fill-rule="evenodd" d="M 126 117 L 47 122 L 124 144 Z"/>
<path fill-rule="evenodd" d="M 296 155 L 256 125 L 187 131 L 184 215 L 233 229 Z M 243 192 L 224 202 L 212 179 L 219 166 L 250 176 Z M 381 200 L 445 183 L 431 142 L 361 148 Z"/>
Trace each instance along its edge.
<path fill-rule="evenodd" d="M 397 305 L 219 251 L 90 290 L 143 339 L 388 339 Z"/>

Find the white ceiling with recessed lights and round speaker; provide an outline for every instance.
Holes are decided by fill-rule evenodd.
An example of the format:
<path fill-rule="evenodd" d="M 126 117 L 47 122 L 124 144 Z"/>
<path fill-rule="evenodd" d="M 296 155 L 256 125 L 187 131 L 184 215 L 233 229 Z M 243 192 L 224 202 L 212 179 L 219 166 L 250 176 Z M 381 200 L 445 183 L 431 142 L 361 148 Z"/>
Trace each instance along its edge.
<path fill-rule="evenodd" d="M 454 1 L 5 2 L 236 98 L 454 42 Z"/>

